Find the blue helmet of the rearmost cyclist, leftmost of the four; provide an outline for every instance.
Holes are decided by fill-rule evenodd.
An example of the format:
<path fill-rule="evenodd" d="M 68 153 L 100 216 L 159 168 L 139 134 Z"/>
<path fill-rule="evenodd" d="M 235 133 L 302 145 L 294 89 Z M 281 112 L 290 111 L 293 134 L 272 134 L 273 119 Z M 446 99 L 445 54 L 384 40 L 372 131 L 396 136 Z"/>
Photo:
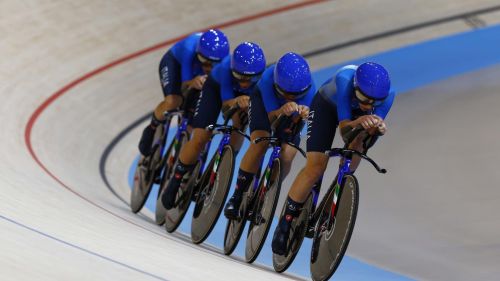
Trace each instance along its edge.
<path fill-rule="evenodd" d="M 220 61 L 229 54 L 229 41 L 222 31 L 210 29 L 201 35 L 196 52 L 209 60 Z"/>

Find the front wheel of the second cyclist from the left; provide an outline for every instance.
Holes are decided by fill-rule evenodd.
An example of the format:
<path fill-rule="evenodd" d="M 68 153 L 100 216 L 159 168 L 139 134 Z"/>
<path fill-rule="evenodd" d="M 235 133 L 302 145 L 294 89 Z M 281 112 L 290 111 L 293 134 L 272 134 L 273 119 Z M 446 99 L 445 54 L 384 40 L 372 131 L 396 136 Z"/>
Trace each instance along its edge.
<path fill-rule="evenodd" d="M 205 171 L 210 176 L 204 177 L 206 180 L 196 199 L 191 221 L 191 240 L 195 244 L 202 243 L 210 235 L 226 202 L 234 172 L 234 152 L 230 145 L 224 147 L 214 167 Z"/>

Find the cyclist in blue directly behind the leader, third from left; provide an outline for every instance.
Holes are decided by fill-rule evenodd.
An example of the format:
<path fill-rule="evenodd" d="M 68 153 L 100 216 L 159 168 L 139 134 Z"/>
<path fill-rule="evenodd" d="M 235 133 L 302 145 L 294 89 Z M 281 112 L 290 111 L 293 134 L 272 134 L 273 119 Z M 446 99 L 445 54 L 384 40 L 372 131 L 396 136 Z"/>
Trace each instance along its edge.
<path fill-rule="evenodd" d="M 298 112 L 302 118 L 307 118 L 315 92 L 316 88 L 307 61 L 296 53 L 283 55 L 276 65 L 266 69 L 250 96 L 249 119 L 252 141 L 259 137 L 268 137 L 271 132 L 271 120 L 280 114 L 290 116 Z M 298 145 L 300 135 L 296 135 L 293 142 Z M 238 218 L 243 192 L 248 189 L 257 173 L 267 147 L 268 142 L 263 141 L 258 144 L 252 142 L 243 156 L 236 188 L 224 208 L 224 215 L 228 219 Z M 296 152 L 291 146 L 283 145 L 281 150 L 283 178 L 290 171 Z"/>

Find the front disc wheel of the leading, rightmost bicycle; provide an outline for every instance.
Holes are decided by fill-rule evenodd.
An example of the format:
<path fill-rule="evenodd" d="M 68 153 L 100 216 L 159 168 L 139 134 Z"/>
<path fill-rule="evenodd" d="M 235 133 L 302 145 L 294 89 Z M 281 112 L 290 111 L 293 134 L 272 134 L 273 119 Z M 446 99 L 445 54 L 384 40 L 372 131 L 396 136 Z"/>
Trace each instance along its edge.
<path fill-rule="evenodd" d="M 335 215 L 332 216 L 335 188 L 330 188 L 325 204 L 314 227 L 311 250 L 311 276 L 313 280 L 329 279 L 349 245 L 359 204 L 358 182 L 354 175 L 346 175 L 338 194 Z"/>

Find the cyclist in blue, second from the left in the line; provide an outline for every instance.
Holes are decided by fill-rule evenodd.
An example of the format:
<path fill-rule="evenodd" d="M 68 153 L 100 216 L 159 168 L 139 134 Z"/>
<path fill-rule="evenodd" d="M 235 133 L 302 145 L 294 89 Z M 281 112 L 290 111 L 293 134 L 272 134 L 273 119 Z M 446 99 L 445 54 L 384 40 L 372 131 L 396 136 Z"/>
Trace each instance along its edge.
<path fill-rule="evenodd" d="M 179 190 L 182 177 L 194 168 L 198 156 L 210 140 L 212 133 L 205 128 L 216 123 L 221 108 L 237 104 L 240 107 L 240 113 L 234 115 L 233 125 L 239 129 L 246 126 L 248 95 L 265 68 L 264 52 L 259 45 L 251 42 L 238 45 L 232 56 L 226 57 L 214 67 L 203 85 L 196 106 L 192 124 L 193 137 L 182 146 L 174 176 L 163 193 L 162 203 L 167 210 L 174 205 L 175 195 Z M 242 142 L 242 136 L 234 133 L 231 137 L 231 145 L 235 152 L 240 148 Z"/>

